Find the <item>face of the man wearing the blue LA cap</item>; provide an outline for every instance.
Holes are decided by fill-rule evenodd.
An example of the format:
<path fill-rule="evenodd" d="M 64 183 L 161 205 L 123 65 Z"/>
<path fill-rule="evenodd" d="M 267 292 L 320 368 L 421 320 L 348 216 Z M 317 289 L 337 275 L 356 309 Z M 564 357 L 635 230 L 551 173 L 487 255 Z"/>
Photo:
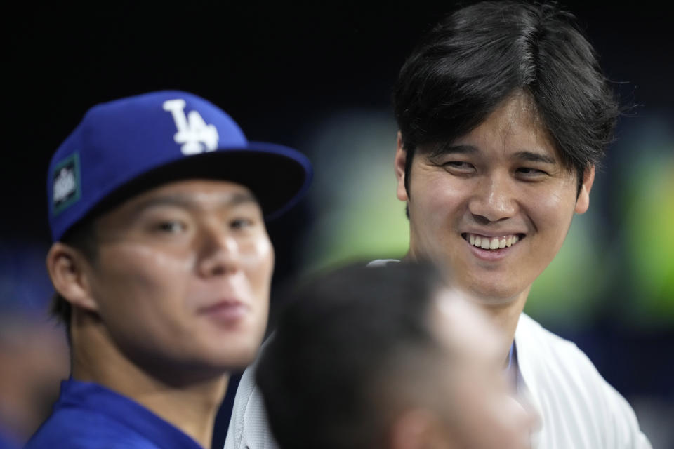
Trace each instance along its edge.
<path fill-rule="evenodd" d="M 202 375 L 253 360 L 274 253 L 246 187 L 172 182 L 100 217 L 96 235 L 93 311 L 134 363 Z"/>

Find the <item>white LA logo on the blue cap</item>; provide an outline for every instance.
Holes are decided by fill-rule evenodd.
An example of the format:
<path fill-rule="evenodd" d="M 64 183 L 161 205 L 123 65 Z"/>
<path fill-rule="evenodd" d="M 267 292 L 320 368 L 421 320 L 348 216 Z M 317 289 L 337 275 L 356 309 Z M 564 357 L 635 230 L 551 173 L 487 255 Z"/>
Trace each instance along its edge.
<path fill-rule="evenodd" d="M 190 111 L 185 116 L 185 100 L 166 100 L 164 111 L 171 112 L 173 121 L 176 122 L 178 132 L 173 135 L 173 140 L 182 145 L 180 151 L 189 156 L 203 152 L 212 152 L 218 149 L 218 130 L 213 125 L 206 125 L 204 119 L 197 111 Z"/>

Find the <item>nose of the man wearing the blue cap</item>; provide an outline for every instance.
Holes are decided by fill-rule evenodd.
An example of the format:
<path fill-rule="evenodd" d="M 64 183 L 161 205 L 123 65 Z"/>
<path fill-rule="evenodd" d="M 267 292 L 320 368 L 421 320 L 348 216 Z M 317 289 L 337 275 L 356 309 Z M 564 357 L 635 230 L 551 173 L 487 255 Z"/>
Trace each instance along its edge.
<path fill-rule="evenodd" d="M 239 242 L 226 229 L 221 228 L 222 225 L 204 227 L 201 232 L 197 253 L 201 276 L 223 276 L 241 269 Z"/>

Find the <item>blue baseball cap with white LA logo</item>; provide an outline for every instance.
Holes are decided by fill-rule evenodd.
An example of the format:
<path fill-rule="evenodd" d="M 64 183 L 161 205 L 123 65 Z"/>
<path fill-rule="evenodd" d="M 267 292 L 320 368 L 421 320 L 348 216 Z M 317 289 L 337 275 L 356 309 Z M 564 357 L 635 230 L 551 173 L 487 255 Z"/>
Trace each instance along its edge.
<path fill-rule="evenodd" d="M 192 93 L 159 91 L 101 103 L 86 112 L 49 164 L 52 239 L 104 205 L 192 177 L 245 185 L 270 220 L 303 196 L 312 167 L 295 149 L 249 142 L 232 117 Z"/>

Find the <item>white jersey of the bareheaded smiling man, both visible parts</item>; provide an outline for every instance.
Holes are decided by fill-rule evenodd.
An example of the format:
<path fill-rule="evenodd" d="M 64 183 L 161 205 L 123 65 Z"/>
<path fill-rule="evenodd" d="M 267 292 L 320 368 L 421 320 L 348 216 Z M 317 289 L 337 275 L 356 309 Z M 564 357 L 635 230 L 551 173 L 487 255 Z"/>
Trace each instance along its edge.
<path fill-rule="evenodd" d="M 379 262 L 379 261 L 377 261 Z M 515 331 L 518 387 L 541 417 L 534 449 L 651 449 L 628 402 L 568 340 L 527 314 Z M 276 449 L 255 365 L 244 373 L 234 398 L 225 449 Z"/>

